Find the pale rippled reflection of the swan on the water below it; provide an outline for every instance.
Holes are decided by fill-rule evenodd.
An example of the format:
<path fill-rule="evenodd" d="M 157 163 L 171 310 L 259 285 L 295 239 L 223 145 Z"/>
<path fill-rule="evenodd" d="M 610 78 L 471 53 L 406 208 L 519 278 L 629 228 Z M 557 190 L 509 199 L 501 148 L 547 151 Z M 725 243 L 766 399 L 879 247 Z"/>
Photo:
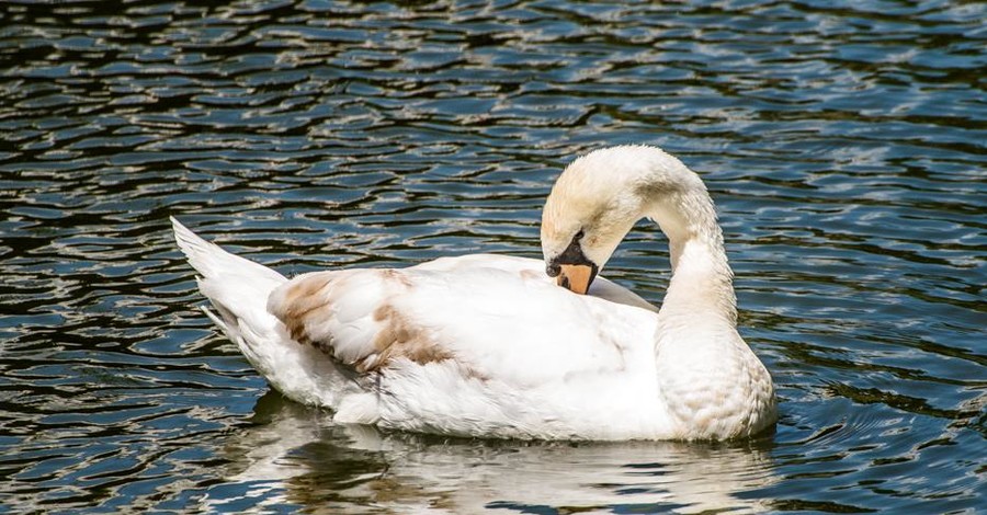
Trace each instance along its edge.
<path fill-rule="evenodd" d="M 209 490 L 211 510 L 247 501 L 316 513 L 749 513 L 768 506 L 737 494 L 775 481 L 756 443 L 449 440 L 334 424 L 276 393 L 256 411 L 269 422 L 230 435 L 220 456 L 229 474 Z"/>

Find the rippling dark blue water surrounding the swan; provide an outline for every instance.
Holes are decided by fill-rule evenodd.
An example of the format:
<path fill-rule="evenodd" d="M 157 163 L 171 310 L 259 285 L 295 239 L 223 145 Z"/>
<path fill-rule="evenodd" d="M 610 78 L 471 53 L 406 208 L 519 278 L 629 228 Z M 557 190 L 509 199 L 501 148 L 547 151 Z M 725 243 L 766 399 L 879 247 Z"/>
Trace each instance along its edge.
<path fill-rule="evenodd" d="M 4 2 L 0 511 L 987 511 L 987 7 Z M 538 256 L 603 145 L 703 173 L 774 435 L 446 440 L 270 393 L 175 215 L 277 270 Z M 609 275 L 660 301 L 642 225 Z"/>

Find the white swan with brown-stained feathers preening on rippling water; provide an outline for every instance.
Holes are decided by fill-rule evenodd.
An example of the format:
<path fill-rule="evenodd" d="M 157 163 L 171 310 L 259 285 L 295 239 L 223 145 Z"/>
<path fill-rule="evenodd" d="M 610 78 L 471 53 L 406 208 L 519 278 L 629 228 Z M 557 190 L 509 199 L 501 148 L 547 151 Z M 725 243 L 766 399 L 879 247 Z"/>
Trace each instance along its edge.
<path fill-rule="evenodd" d="M 599 276 L 643 218 L 669 243 L 660 309 Z M 563 171 L 543 211 L 544 261 L 473 254 L 287 279 L 171 221 L 206 314 L 274 389 L 340 423 L 688 440 L 776 421 L 771 376 L 737 332 L 713 201 L 656 147 L 599 149 Z"/>

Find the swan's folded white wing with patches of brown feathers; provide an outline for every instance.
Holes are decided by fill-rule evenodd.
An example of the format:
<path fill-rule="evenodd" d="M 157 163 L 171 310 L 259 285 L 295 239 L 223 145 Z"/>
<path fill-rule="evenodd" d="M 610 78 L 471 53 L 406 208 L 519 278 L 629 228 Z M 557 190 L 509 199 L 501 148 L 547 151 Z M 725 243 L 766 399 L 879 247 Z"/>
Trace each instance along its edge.
<path fill-rule="evenodd" d="M 464 375 L 532 386 L 622 369 L 629 347 L 654 345 L 654 313 L 572 294 L 542 266 L 478 255 L 405 270 L 317 272 L 277 288 L 268 309 L 295 340 L 359 374 L 453 363 Z"/>

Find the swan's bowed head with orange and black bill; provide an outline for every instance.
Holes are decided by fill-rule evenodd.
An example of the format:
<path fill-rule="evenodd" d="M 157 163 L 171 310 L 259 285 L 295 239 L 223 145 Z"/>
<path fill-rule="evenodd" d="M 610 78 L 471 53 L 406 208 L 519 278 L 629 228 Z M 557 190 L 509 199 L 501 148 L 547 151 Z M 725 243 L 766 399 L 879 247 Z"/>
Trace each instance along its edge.
<path fill-rule="evenodd" d="M 585 294 L 624 236 L 645 216 L 656 159 L 668 158 L 651 147 L 612 147 L 569 164 L 542 213 L 546 273 Z"/>

